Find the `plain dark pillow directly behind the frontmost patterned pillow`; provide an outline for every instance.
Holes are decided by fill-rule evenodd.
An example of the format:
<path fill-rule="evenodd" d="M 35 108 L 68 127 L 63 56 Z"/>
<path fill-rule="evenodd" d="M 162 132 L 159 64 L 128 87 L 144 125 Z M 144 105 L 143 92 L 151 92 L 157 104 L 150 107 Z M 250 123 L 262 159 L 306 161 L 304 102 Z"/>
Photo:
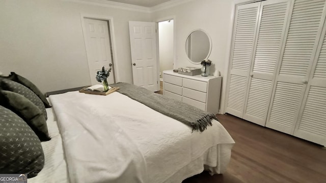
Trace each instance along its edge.
<path fill-rule="evenodd" d="M 24 96 L 14 92 L 0 90 L 0 105 L 10 109 L 21 117 L 41 141 L 51 139 L 42 111 Z"/>

